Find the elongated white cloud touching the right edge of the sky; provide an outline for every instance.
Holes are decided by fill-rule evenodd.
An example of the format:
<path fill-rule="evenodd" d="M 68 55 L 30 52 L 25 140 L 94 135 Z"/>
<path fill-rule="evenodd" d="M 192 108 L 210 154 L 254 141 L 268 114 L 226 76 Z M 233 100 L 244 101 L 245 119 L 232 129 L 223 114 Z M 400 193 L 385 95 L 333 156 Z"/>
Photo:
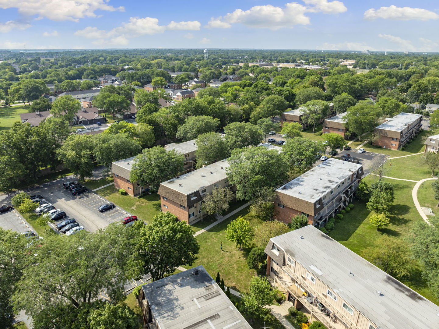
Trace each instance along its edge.
<path fill-rule="evenodd" d="M 439 15 L 427 9 L 396 7 L 395 5 L 381 7 L 379 9 L 371 8 L 364 12 L 364 19 L 374 20 L 377 18 L 400 21 L 408 21 L 410 19 L 428 21 L 429 19 L 438 19 Z"/>

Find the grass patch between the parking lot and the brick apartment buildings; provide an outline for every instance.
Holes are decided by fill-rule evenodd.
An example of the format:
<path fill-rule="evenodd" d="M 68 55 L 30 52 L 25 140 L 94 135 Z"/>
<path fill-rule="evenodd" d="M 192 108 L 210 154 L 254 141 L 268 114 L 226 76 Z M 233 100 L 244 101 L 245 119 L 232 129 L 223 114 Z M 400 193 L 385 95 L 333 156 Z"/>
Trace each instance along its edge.
<path fill-rule="evenodd" d="M 151 221 L 152 217 L 160 212 L 160 197 L 157 193 L 136 198 L 131 195 L 121 195 L 112 185 L 96 193 L 146 222 Z"/>

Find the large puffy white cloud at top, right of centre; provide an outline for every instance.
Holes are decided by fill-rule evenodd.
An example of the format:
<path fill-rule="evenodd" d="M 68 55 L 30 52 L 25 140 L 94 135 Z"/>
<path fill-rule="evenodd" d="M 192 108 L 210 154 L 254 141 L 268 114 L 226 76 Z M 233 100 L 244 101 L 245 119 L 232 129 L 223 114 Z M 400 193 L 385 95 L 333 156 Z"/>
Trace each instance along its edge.
<path fill-rule="evenodd" d="M 248 10 L 236 9 L 218 18 L 211 18 L 207 28 L 227 29 L 231 24 L 243 24 L 251 28 L 277 30 L 291 28 L 294 25 L 309 25 L 309 17 L 306 13 L 338 14 L 347 11 L 341 1 L 327 0 L 302 0 L 306 6 L 291 2 L 282 7 L 271 4 L 254 6 Z"/>

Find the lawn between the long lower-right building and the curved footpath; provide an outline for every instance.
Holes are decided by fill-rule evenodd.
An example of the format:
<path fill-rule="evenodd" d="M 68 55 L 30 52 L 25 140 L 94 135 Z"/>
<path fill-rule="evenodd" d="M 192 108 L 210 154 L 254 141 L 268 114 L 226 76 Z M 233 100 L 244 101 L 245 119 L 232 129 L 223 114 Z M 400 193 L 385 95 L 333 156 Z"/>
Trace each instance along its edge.
<path fill-rule="evenodd" d="M 406 178 L 410 179 L 410 177 Z M 378 178 L 368 176 L 364 180 L 371 184 L 377 181 Z M 365 203 L 353 202 L 355 205 L 353 210 L 345 214 L 342 221 L 338 222 L 329 233 L 333 239 L 360 255 L 361 251 L 368 246 L 377 246 L 376 240 L 382 234 L 396 236 L 399 239 L 407 239 L 408 232 L 413 224 L 416 221 L 422 221 L 411 198 L 411 191 L 415 183 L 391 179 L 384 179 L 384 181 L 392 183 L 395 189 L 395 201 L 390 210 L 390 213 L 392 213 L 392 216 L 390 216 L 391 224 L 388 227 L 382 228 L 380 231 L 376 230 L 369 223 L 368 216 L 370 212 L 366 209 Z M 435 304 L 439 304 L 439 300 L 433 296 L 426 282 L 422 279 L 419 268 L 416 268 L 410 277 L 399 280 L 422 296 L 425 296 L 425 298 L 428 298 Z"/>

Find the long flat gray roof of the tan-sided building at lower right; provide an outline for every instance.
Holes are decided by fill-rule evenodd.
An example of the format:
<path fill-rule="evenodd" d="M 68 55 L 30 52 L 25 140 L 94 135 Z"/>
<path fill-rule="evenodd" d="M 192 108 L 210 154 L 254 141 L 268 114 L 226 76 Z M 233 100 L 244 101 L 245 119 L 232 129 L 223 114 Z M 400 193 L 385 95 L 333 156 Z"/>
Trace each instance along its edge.
<path fill-rule="evenodd" d="M 270 241 L 380 328 L 439 328 L 437 305 L 313 225 Z"/>

